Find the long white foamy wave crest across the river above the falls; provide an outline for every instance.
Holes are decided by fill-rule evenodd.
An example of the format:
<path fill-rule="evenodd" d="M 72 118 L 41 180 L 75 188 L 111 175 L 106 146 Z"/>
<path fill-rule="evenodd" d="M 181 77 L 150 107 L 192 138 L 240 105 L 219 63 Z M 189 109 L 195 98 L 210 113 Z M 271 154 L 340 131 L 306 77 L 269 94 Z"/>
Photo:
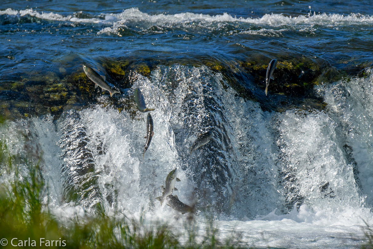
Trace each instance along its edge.
<path fill-rule="evenodd" d="M 78 18 L 73 15 L 63 16 L 53 12 L 38 12 L 33 9 L 25 10 L 13 10 L 6 9 L 0 10 L 0 15 L 10 15 L 10 16 L 35 16 L 40 19 L 50 20 L 50 21 L 67 21 L 76 24 L 80 23 L 90 23 L 98 24 L 103 26 L 98 35 L 110 34 L 110 35 L 122 35 L 122 31 L 125 29 L 133 29 L 137 32 L 155 32 L 163 33 L 167 32 L 169 29 L 182 29 L 182 30 L 194 30 L 197 32 L 214 31 L 225 29 L 224 24 L 251 24 L 251 25 L 266 25 L 273 28 L 286 27 L 289 29 L 299 30 L 300 32 L 304 30 L 316 30 L 315 25 L 322 27 L 344 27 L 351 25 L 372 25 L 373 16 L 361 15 L 360 13 L 351 13 L 350 15 L 341 14 L 326 14 L 326 13 L 309 13 L 308 15 L 300 16 L 285 16 L 282 14 L 266 14 L 261 18 L 243 18 L 243 17 L 233 17 L 228 13 L 223 15 L 204 15 L 197 13 L 178 13 L 174 15 L 149 15 L 147 13 L 141 12 L 138 8 L 125 9 L 121 13 L 103 13 L 104 19 L 101 18 Z M 153 30 L 156 27 L 156 30 Z M 246 28 L 245 28 L 246 29 Z M 269 36 L 278 36 L 283 30 L 273 30 L 261 29 L 258 30 L 245 30 L 243 32 L 248 32 L 251 34 L 263 34 Z"/>

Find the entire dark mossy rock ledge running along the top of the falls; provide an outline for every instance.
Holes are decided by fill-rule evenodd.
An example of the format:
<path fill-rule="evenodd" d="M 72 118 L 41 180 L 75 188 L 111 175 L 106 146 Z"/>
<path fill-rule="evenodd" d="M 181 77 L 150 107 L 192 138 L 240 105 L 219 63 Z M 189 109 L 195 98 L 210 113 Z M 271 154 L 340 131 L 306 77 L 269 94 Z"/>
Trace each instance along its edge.
<path fill-rule="evenodd" d="M 250 58 L 224 60 L 222 58 L 199 57 L 195 59 L 128 59 L 103 58 L 98 64 L 106 71 L 107 80 L 116 90 L 124 93 L 109 97 L 85 75 L 81 64 L 59 72 L 23 75 L 2 81 L 0 84 L 0 115 L 6 119 L 18 119 L 51 113 L 56 117 L 68 109 L 80 109 L 92 104 L 113 106 L 119 111 L 129 110 L 132 100 L 128 88 L 137 74 L 150 77 L 158 65 L 205 65 L 223 75 L 225 82 L 235 89 L 239 96 L 259 102 L 266 111 L 283 112 L 289 108 L 304 110 L 325 108 L 326 103 L 314 93 L 315 84 L 338 81 L 346 75 L 361 74 L 360 67 L 337 70 L 327 62 L 313 57 L 278 57 L 277 69 L 271 80 L 268 96 L 264 94 L 265 77 L 271 58 L 262 55 Z M 357 70 L 357 68 L 360 69 Z M 68 72 L 69 71 L 69 72 Z M 136 74 L 137 73 L 137 74 Z M 224 84 L 224 83 L 223 83 Z M 226 87 L 228 87 L 228 85 Z"/>

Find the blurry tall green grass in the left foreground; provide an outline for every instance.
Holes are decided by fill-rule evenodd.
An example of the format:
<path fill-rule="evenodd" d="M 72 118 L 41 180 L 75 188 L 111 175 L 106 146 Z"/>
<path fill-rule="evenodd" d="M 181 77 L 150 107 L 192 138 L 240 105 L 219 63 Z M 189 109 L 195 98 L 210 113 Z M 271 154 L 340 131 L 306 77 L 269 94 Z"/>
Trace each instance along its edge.
<path fill-rule="evenodd" d="M 28 159 L 32 158 L 32 159 Z M 66 222 L 50 213 L 48 187 L 44 181 L 40 156 L 11 155 L 4 141 L 0 141 L 0 177 L 6 179 L 0 186 L 0 239 L 8 240 L 4 248 L 13 248 L 10 241 L 35 240 L 37 248 L 50 248 L 40 238 L 60 240 L 53 248 L 237 248 L 238 241 L 220 242 L 217 228 L 211 222 L 201 234 L 191 214 L 184 224 L 185 234 L 159 222 L 148 223 L 124 215 L 107 215 L 97 205 L 94 217 L 73 218 Z M 116 217 L 123 218 L 116 218 Z M 182 237 L 186 242 L 181 243 Z M 234 246 L 235 245 L 235 246 Z"/>

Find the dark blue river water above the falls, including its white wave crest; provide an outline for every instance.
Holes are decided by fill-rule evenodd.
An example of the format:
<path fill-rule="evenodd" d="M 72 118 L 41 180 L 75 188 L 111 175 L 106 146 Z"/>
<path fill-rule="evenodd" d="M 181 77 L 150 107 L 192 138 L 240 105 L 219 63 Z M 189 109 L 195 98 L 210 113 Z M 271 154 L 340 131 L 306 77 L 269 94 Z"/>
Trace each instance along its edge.
<path fill-rule="evenodd" d="M 0 74 L 4 79 L 58 72 L 61 65 L 80 64 L 82 59 L 73 58 L 83 55 L 260 57 L 266 63 L 304 55 L 337 69 L 364 67 L 373 61 L 369 6 L 369 1 L 2 1 Z"/>

